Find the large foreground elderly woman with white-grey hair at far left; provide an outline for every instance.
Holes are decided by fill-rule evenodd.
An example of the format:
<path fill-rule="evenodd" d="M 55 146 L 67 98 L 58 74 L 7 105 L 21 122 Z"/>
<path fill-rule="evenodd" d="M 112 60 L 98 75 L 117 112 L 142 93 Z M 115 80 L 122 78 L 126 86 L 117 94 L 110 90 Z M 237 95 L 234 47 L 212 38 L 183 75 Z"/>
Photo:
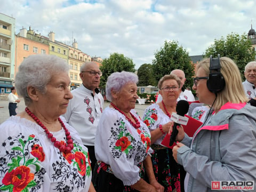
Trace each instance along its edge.
<path fill-rule="evenodd" d="M 95 191 L 87 148 L 65 118 L 68 64 L 30 55 L 15 78 L 26 109 L 0 125 L 1 191 Z"/>

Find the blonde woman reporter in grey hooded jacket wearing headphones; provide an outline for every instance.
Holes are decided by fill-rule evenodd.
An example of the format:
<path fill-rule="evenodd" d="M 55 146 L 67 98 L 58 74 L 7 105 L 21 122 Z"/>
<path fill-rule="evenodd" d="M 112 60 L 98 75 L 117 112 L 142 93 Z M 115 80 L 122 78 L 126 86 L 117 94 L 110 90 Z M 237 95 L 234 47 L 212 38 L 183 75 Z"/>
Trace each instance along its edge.
<path fill-rule="evenodd" d="M 179 143 L 172 151 L 187 171 L 185 191 L 217 191 L 227 186 L 255 191 L 256 110 L 247 103 L 238 67 L 219 55 L 204 59 L 196 67 L 193 89 L 199 101 L 214 111 L 193 138 L 177 127 Z M 238 182 L 243 185 L 237 186 Z"/>

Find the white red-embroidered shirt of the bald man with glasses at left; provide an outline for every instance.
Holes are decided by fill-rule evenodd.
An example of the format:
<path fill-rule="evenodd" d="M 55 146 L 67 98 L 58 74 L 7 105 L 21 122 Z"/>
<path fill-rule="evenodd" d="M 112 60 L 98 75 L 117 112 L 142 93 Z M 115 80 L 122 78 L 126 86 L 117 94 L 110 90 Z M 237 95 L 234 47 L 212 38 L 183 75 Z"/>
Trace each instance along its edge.
<path fill-rule="evenodd" d="M 71 93 L 73 99 L 69 101 L 63 117 L 79 133 L 84 145 L 94 146 L 97 125 L 103 111 L 103 97 L 96 92 L 93 97 L 93 91 L 86 89 L 83 84 Z"/>

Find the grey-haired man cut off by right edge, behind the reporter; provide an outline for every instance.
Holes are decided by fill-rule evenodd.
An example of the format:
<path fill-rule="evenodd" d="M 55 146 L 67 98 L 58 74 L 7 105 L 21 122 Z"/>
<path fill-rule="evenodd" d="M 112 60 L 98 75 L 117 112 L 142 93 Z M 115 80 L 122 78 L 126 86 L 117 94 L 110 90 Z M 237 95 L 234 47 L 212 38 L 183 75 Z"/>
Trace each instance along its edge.
<path fill-rule="evenodd" d="M 247 63 L 244 68 L 246 80 L 243 82 L 244 91 L 249 99 L 256 99 L 256 61 Z"/>

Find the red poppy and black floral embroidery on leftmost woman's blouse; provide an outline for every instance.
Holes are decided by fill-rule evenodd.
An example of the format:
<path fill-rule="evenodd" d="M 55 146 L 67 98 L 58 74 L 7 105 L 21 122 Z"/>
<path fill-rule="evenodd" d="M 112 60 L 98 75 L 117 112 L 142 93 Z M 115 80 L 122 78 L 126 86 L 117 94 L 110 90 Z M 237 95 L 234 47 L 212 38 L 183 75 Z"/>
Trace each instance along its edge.
<path fill-rule="evenodd" d="M 75 140 L 73 142 L 74 149 L 71 153 L 61 155 L 58 151 L 59 159 L 52 163 L 52 171 L 48 173 L 55 182 L 54 191 L 83 188 L 85 175 L 91 175 L 89 154 Z M 65 141 L 61 143 L 66 144 Z M 20 133 L 18 137 L 8 137 L 4 140 L 2 147 L 5 146 L 13 147 L 11 151 L 6 150 L 5 155 L 0 158 L 0 173 L 4 175 L 0 191 L 41 190 L 46 171 L 41 164 L 45 161 L 45 153 L 40 141 L 34 134 L 25 140 L 25 136 Z"/>

